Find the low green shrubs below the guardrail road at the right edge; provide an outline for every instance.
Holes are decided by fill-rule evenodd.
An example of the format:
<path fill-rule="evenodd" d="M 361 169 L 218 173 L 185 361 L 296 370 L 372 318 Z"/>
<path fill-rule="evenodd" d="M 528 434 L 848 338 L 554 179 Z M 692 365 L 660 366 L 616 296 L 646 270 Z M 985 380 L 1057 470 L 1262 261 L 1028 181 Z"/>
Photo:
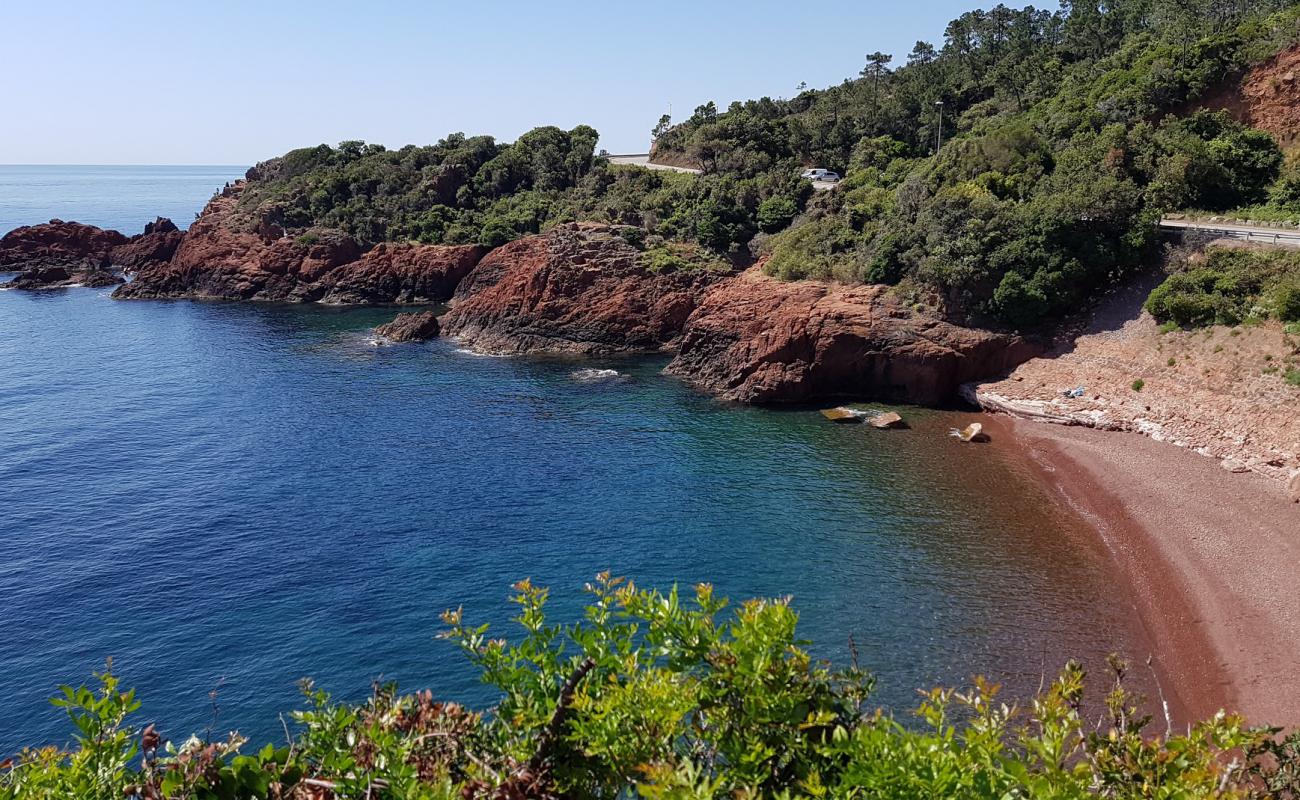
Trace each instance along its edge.
<path fill-rule="evenodd" d="M 1147 310 L 1184 328 L 1300 323 L 1300 252 L 1210 247 L 1157 286 Z"/>

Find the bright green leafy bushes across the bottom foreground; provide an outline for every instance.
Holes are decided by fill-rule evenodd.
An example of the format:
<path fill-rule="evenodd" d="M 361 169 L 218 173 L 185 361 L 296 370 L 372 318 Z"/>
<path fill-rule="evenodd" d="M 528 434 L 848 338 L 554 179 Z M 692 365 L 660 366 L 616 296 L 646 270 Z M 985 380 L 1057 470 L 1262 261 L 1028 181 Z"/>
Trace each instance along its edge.
<path fill-rule="evenodd" d="M 1027 706 L 997 687 L 923 695 L 919 723 L 867 710 L 872 679 L 812 661 L 784 600 L 734 611 L 602 575 L 571 624 L 547 591 L 515 585 L 515 644 L 448 611 L 456 643 L 500 692 L 482 713 L 377 687 L 360 705 L 304 686 L 282 747 L 165 741 L 130 722 L 110 673 L 64 688 L 69 749 L 4 764 L 0 797 L 1262 797 L 1295 796 L 1300 738 L 1218 714 L 1186 735 L 1147 730 L 1113 661 L 1102 719 L 1076 666 Z"/>

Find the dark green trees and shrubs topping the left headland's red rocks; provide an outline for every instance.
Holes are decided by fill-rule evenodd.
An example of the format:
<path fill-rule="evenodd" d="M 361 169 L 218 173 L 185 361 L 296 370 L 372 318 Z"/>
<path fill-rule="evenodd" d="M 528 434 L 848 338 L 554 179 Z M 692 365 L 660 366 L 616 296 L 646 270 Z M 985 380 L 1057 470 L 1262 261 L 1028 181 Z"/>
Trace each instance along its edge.
<path fill-rule="evenodd" d="M 417 241 L 498 246 L 556 222 L 601 220 L 727 254 L 760 226 L 777 229 L 811 189 L 797 174 L 748 180 L 614 167 L 597 133 L 538 127 L 512 144 L 452 134 L 389 151 L 343 142 L 291 151 L 255 167 L 240 209 L 251 226 L 299 235 L 343 230 L 363 245 Z M 784 216 L 783 216 L 784 215 Z"/>

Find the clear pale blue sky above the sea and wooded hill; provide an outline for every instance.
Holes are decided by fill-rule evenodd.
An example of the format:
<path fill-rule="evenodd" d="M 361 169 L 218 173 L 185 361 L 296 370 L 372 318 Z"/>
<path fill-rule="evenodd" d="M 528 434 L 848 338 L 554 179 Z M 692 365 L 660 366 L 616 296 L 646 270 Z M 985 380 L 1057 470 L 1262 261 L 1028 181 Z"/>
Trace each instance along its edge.
<path fill-rule="evenodd" d="M 975 5 L 4 0 L 0 164 L 251 164 L 584 122 L 640 152 L 670 104 L 790 96 L 875 49 L 900 64 Z"/>

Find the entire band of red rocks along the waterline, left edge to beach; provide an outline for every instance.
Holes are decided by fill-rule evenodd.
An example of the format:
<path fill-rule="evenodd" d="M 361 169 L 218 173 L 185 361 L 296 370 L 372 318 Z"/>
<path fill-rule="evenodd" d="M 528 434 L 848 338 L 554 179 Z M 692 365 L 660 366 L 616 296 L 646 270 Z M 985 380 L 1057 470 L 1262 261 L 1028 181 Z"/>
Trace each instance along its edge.
<path fill-rule="evenodd" d="M 656 267 L 642 232 L 625 225 L 562 224 L 490 251 L 363 248 L 337 230 L 289 235 L 246 219 L 244 186 L 213 196 L 188 232 L 162 219 L 135 237 L 58 220 L 17 229 L 0 245 L 0 264 L 23 269 L 8 286 L 121 284 L 116 299 L 448 303 L 441 319 L 408 317 L 381 336 L 446 336 L 493 354 L 668 353 L 672 375 L 742 403 L 944 405 L 963 382 L 1037 351 L 911 308 L 881 286 L 783 282 L 760 264 Z"/>

